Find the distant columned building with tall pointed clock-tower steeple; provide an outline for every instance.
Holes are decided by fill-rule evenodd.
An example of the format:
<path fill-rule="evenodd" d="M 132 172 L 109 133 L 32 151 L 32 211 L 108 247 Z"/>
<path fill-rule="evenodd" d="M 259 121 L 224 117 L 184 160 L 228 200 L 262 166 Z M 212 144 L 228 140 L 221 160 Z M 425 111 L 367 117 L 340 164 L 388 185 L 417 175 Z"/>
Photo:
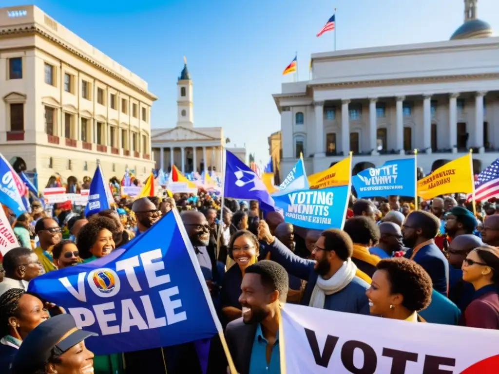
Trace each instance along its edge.
<path fill-rule="evenodd" d="M 177 80 L 177 126 L 153 129 L 152 152 L 156 168 L 165 172 L 172 165 L 182 173 L 221 171 L 226 145 L 222 127 L 194 127 L 193 81 L 187 63 Z M 227 148 L 246 163 L 245 148 Z"/>

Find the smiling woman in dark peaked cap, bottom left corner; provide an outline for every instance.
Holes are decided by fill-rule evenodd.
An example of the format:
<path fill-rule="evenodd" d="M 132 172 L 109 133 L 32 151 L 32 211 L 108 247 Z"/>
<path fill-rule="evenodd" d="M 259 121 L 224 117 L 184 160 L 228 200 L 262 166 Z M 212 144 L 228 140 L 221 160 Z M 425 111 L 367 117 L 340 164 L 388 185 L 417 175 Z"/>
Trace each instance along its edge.
<path fill-rule="evenodd" d="M 70 314 L 49 318 L 23 340 L 10 373 L 93 373 L 94 354 L 85 347 L 84 341 L 95 335 L 78 329 Z"/>

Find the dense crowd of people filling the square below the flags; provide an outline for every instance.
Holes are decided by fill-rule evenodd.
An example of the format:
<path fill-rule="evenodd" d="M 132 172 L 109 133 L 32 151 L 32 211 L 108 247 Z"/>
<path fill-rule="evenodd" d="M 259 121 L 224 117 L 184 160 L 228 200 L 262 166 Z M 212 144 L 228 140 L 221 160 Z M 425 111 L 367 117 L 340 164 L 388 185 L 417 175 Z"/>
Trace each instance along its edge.
<path fill-rule="evenodd" d="M 31 279 L 106 256 L 172 209 L 181 213 L 240 374 L 280 372 L 285 302 L 499 329 L 499 214 L 491 203 L 474 214 L 459 196 L 436 197 L 419 209 L 399 196 L 352 198 L 342 230 L 317 231 L 278 212 L 263 214 L 256 200 L 193 197 L 121 199 L 116 209 L 90 217 L 71 209 L 47 216 L 35 202 L 31 213 L 12 217 L 20 247 L 2 261 L 0 373 L 227 373 L 218 336 L 206 363 L 198 342 L 94 356 L 84 343 L 92 333 L 26 292 Z"/>

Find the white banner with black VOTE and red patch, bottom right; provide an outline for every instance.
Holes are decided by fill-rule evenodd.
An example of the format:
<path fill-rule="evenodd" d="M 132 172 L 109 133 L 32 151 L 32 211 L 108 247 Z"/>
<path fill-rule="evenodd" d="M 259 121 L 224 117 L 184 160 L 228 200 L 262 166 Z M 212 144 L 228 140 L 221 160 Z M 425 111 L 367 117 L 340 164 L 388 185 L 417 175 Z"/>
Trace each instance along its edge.
<path fill-rule="evenodd" d="M 498 373 L 496 330 L 412 323 L 293 304 L 282 308 L 282 329 L 286 374 Z"/>

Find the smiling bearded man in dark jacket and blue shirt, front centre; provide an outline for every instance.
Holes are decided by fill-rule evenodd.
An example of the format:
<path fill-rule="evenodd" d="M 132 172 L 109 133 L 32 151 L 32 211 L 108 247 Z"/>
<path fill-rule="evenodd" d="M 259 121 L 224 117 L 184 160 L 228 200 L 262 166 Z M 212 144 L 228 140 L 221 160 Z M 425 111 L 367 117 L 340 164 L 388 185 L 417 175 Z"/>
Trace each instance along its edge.
<path fill-rule="evenodd" d="M 262 260 L 246 269 L 239 298 L 243 317 L 225 332 L 238 373 L 280 373 L 278 315 L 287 284 L 287 273 L 276 262 Z"/>

